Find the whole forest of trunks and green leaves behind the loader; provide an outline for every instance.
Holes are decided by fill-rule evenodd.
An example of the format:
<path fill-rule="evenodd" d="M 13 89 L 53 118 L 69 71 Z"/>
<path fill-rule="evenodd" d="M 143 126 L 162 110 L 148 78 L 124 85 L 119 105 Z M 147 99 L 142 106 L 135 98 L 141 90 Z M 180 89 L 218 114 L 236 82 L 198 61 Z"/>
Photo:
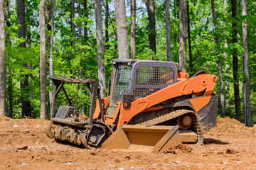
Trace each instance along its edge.
<path fill-rule="evenodd" d="M 256 1 L 1 0 L 0 6 L 0 32 L 4 30 L 0 35 L 4 40 L 4 45 L 0 43 L 1 115 L 46 118 L 41 115 L 40 79 L 48 74 L 98 81 L 102 69 L 105 81 L 101 85 L 106 87 L 111 60 L 125 58 L 119 53 L 124 50 L 118 44 L 122 38 L 117 41 L 119 25 L 124 24 L 127 58 L 179 62 L 190 76 L 200 70 L 218 75 L 219 116 L 249 120 L 248 126 L 256 123 Z M 98 39 L 99 30 L 104 44 Z M 42 62 L 46 75 L 41 74 Z M 77 85 L 65 86 L 75 100 Z M 50 118 L 53 86 L 49 79 L 46 91 L 43 100 Z M 89 113 L 90 97 L 83 88 L 78 108 Z"/>

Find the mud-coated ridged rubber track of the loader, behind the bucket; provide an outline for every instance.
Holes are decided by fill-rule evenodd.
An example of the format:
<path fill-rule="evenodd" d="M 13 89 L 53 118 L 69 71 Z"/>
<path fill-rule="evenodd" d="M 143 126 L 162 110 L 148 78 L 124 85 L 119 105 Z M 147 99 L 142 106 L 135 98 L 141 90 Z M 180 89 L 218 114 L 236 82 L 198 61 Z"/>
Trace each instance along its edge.
<path fill-rule="evenodd" d="M 161 115 L 158 118 L 147 120 L 145 122 L 138 123 L 136 125 L 157 125 L 159 123 L 164 123 L 167 120 L 177 118 L 178 116 L 184 115 L 186 113 L 193 113 L 193 115 L 195 115 L 195 116 L 193 116 L 193 122 L 196 125 L 196 127 L 195 127 L 196 128 L 196 134 L 198 136 L 198 140 L 196 141 L 196 145 L 201 145 L 203 143 L 203 132 L 201 130 L 198 118 L 196 117 L 196 113 L 194 113 L 193 111 L 189 111 L 189 110 L 186 110 L 186 109 L 179 109 L 177 111 L 173 111 L 173 112 L 168 113 L 166 115 Z"/>

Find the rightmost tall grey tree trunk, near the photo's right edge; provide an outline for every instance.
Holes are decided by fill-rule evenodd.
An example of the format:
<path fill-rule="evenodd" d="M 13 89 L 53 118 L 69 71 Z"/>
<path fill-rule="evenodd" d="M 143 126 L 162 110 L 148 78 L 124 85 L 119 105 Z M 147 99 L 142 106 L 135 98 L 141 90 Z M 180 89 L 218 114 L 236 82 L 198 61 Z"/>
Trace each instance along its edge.
<path fill-rule="evenodd" d="M 241 0 L 242 16 L 248 15 L 248 2 Z M 248 24 L 242 22 L 242 42 L 244 47 L 244 74 L 245 74 L 245 125 L 252 126 L 252 115 L 250 108 L 250 68 L 249 68 L 249 41 L 248 41 Z"/>

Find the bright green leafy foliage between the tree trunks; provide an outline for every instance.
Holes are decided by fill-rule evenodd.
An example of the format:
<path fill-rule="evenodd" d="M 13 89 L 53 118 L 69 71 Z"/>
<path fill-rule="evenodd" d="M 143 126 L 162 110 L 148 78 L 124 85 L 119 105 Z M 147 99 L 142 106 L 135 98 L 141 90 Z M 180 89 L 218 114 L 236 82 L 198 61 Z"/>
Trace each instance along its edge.
<path fill-rule="evenodd" d="M 26 98 L 31 101 L 32 113 L 34 118 L 40 117 L 40 81 L 39 81 L 39 30 L 38 30 L 38 0 L 25 1 L 26 8 L 26 26 L 30 30 L 26 30 L 26 35 L 31 35 L 31 47 L 20 48 L 18 44 L 26 41 L 25 38 L 18 38 L 18 27 L 16 18 L 16 6 L 11 6 L 11 25 L 6 26 L 6 33 L 9 33 L 10 39 L 6 39 L 6 84 L 7 96 L 13 95 L 13 111 L 14 118 L 21 118 L 21 74 L 28 74 L 29 86 Z M 250 52 L 250 79 L 251 79 L 251 107 L 252 120 L 256 123 L 256 3 L 253 0 L 248 1 L 247 17 L 241 16 L 241 6 L 238 3 L 238 19 L 236 20 L 238 28 L 238 42 L 232 43 L 232 22 L 231 4 L 224 6 L 223 1 L 215 1 L 215 12 L 218 20 L 218 29 L 213 26 L 213 17 L 210 1 L 188 0 L 189 15 L 191 23 L 191 47 L 192 47 L 192 68 L 188 67 L 188 74 L 191 76 L 199 70 L 206 70 L 210 74 L 218 75 L 218 57 L 223 61 L 223 81 L 225 84 L 225 113 L 235 118 L 235 101 L 233 89 L 233 50 L 238 52 L 238 77 L 240 81 L 240 96 L 243 96 L 243 44 L 242 44 L 242 21 L 248 24 L 249 34 L 249 52 Z M 97 80 L 97 42 L 95 33 L 95 11 L 94 1 L 87 1 L 87 9 L 84 8 L 84 1 L 81 1 L 81 16 L 78 16 L 78 1 L 75 2 L 75 18 L 70 21 L 71 6 L 70 0 L 56 1 L 55 7 L 55 40 L 53 46 L 53 70 L 56 77 L 75 77 L 80 79 Z M 144 3 L 144 2 L 143 2 Z M 166 23 L 165 23 L 165 6 L 164 0 L 155 1 L 156 16 L 156 54 L 151 52 L 149 48 L 149 20 L 146 12 L 146 6 L 141 1 L 137 1 L 137 26 L 136 26 L 136 59 L 150 60 L 166 60 Z M 109 37 L 105 38 L 105 71 L 107 78 L 112 74 L 111 60 L 118 58 L 117 39 L 114 34 L 116 30 L 114 1 L 108 1 L 110 6 L 110 18 L 108 18 L 108 27 L 104 26 L 104 31 L 108 31 Z M 129 4 L 129 3 L 128 3 Z M 47 1 L 46 9 L 51 4 Z M 129 9 L 129 6 L 127 6 Z M 47 10 L 46 10 L 47 11 Z M 128 11 L 127 11 L 128 13 Z M 87 14 L 87 17 L 85 16 Z M 106 20 L 106 10 L 102 6 L 103 25 Z M 5 14 L 5 18 L 6 18 Z M 170 17 L 171 17 L 171 57 L 174 62 L 178 62 L 179 45 L 179 20 L 178 20 L 178 0 L 170 1 Z M 128 33 L 130 34 L 130 17 L 127 16 Z M 70 22 L 75 23 L 75 37 L 72 36 Z M 46 24 L 49 18 L 46 12 Z M 86 23 L 86 25 L 85 25 Z M 82 26 L 82 40 L 78 33 L 78 27 Z M 87 28 L 87 41 L 83 38 L 84 29 Z M 46 35 L 50 38 L 50 30 L 46 31 Z M 220 51 L 215 43 L 216 37 L 220 35 Z M 71 47 L 70 42 L 75 40 L 75 49 Z M 11 45 L 9 42 L 11 41 Z M 49 47 L 47 40 L 47 60 L 49 60 Z M 188 50 L 187 50 L 188 52 Z M 219 55 L 220 54 L 220 55 Z M 189 58 L 188 58 L 189 60 Z M 26 67 L 31 64 L 31 69 Z M 47 62 L 47 68 L 48 66 Z M 81 71 L 80 71 L 81 70 Z M 82 74 L 81 74 L 82 73 Z M 49 74 L 49 70 L 48 70 Z M 47 80 L 47 84 L 49 84 Z M 53 90 L 47 86 L 47 90 Z M 77 84 L 65 84 L 65 89 L 70 95 L 71 100 L 75 103 L 77 93 Z M 85 86 L 80 86 L 78 94 L 78 108 L 85 106 L 85 112 L 89 113 L 90 98 L 87 94 Z M 219 94 L 219 81 L 215 87 L 215 93 Z M 48 95 L 48 94 L 47 94 Z M 48 96 L 47 96 L 48 97 Z M 58 103 L 66 104 L 65 96 L 60 93 Z M 243 111 L 243 98 L 241 98 L 241 108 Z M 7 108 L 9 111 L 10 101 L 7 100 Z M 48 113 L 50 111 L 48 103 Z"/>

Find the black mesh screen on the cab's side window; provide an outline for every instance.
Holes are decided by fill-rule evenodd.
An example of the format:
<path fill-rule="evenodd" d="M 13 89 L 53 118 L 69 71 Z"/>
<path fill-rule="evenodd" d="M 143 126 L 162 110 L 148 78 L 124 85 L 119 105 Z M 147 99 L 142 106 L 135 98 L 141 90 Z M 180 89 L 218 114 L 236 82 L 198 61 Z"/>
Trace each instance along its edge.
<path fill-rule="evenodd" d="M 136 80 L 133 94 L 144 98 L 166 86 L 175 83 L 175 72 L 172 67 L 139 66 L 136 69 Z"/>

